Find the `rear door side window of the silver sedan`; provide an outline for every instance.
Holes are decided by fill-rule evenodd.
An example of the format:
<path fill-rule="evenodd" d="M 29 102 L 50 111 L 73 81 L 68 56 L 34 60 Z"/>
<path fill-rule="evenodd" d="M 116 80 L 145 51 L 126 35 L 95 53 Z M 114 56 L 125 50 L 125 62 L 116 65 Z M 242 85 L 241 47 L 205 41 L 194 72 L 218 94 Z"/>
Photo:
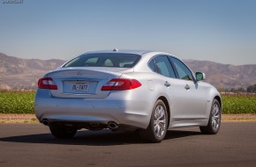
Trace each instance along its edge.
<path fill-rule="evenodd" d="M 168 58 L 164 55 L 160 55 L 154 58 L 156 72 L 161 74 L 162 76 L 173 77 L 175 78 L 175 73 Z"/>

